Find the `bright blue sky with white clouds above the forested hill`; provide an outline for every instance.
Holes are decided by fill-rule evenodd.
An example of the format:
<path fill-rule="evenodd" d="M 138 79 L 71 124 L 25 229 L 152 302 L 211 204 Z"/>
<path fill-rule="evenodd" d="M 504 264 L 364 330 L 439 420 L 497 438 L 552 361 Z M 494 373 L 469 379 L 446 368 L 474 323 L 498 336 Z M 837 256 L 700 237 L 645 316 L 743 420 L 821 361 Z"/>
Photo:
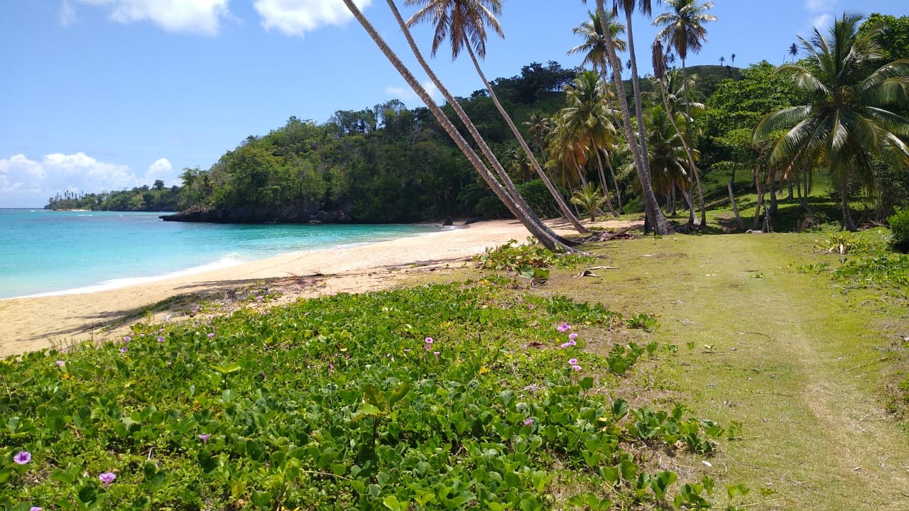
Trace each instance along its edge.
<path fill-rule="evenodd" d="M 416 70 L 386 3 L 355 1 Z M 579 65 L 566 51 L 593 6 L 504 0 L 505 38 L 487 43 L 484 73 Z M 663 10 L 654 3 L 654 15 Z M 730 64 L 732 54 L 737 66 L 780 64 L 798 35 L 844 11 L 909 15 L 905 0 L 714 0 L 718 19 L 687 64 Z M 179 185 L 185 167 L 208 168 L 292 115 L 324 123 L 392 98 L 422 105 L 341 0 L 0 0 L 0 22 L 0 207 L 155 179 Z M 643 16 L 633 26 L 649 62 L 656 28 Z M 414 32 L 428 53 L 430 27 Z M 453 62 L 447 46 L 433 64 L 454 95 L 483 86 L 469 57 Z"/>

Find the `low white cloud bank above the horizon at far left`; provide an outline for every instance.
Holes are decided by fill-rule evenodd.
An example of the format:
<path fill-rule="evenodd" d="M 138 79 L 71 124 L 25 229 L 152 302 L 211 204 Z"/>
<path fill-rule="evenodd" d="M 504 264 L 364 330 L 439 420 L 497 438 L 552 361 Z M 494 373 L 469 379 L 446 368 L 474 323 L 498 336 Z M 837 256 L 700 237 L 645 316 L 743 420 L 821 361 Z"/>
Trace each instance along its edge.
<path fill-rule="evenodd" d="M 67 190 L 97 193 L 152 185 L 155 179 L 176 184 L 173 165 L 166 158 L 158 159 L 139 176 L 127 165 L 100 162 L 81 152 L 54 153 L 41 160 L 12 155 L 0 159 L 0 207 L 45 205 L 48 197 Z"/>

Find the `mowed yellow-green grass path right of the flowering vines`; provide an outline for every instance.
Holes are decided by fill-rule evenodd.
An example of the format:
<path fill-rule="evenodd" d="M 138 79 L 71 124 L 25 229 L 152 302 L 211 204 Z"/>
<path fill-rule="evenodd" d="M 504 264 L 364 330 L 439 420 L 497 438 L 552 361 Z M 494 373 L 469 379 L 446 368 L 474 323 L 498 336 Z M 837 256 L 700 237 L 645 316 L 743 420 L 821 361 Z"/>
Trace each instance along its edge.
<path fill-rule="evenodd" d="M 678 356 L 647 377 L 698 416 L 743 424 L 708 471 L 751 487 L 751 502 L 774 491 L 749 508 L 909 509 L 909 432 L 884 411 L 907 312 L 789 267 L 831 260 L 812 253 L 818 237 L 610 242 L 595 251 L 619 269 L 556 276 L 545 292 L 661 316 L 657 338 Z"/>

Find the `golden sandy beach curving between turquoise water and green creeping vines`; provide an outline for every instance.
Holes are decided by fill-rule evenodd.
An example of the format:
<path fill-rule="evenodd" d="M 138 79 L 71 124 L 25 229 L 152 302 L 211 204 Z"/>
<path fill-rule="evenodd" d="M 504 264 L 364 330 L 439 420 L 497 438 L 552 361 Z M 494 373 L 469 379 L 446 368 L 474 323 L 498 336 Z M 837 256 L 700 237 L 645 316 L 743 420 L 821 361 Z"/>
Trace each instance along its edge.
<path fill-rule="evenodd" d="M 564 225 L 555 224 L 557 231 Z M 182 303 L 224 299 L 251 286 L 282 289 L 281 302 L 325 293 L 395 286 L 415 267 L 461 266 L 466 258 L 528 232 L 514 220 L 495 220 L 341 249 L 285 254 L 239 266 L 90 294 L 0 300 L 0 357 L 49 346 L 123 336 L 132 322 L 166 321 L 175 311 L 144 308 L 174 296 Z M 178 302 L 175 300 L 175 303 Z M 180 311 L 181 317 L 184 315 Z M 125 318 L 128 318 L 125 320 Z"/>

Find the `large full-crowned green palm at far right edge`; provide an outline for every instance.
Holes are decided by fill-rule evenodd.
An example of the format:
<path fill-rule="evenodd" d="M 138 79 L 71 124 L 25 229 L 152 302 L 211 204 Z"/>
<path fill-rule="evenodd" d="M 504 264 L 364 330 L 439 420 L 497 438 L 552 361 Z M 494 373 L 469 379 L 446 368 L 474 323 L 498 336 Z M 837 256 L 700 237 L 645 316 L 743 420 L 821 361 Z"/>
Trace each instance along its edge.
<path fill-rule="evenodd" d="M 754 130 L 759 142 L 776 129 L 788 131 L 773 141 L 768 166 L 798 165 L 810 173 L 827 167 L 839 187 L 843 226 L 855 230 L 849 213 L 849 184 L 870 184 L 873 158 L 894 167 L 909 166 L 909 118 L 900 109 L 909 104 L 909 58 L 884 64 L 877 42 L 883 28 L 859 33 L 861 15 L 844 13 L 824 36 L 814 28 L 810 40 L 799 38 L 810 66 L 784 65 L 807 97 L 807 105 L 765 115 Z"/>

